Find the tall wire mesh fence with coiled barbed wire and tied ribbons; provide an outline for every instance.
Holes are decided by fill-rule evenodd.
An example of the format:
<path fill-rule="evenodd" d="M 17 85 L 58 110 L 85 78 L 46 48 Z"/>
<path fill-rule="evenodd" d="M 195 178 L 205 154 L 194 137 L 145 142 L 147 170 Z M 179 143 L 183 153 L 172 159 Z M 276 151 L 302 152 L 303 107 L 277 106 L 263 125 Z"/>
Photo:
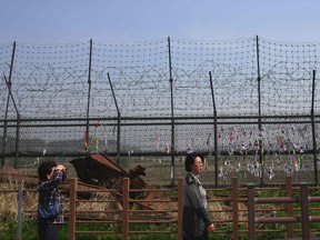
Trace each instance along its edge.
<path fill-rule="evenodd" d="M 167 158 L 193 150 L 211 166 L 218 151 L 212 171 L 221 179 L 244 171 L 269 179 L 276 170 L 318 174 L 320 87 L 312 78 L 320 42 L 168 38 L 0 48 L 2 162 L 14 154 L 33 162 L 88 151 Z"/>

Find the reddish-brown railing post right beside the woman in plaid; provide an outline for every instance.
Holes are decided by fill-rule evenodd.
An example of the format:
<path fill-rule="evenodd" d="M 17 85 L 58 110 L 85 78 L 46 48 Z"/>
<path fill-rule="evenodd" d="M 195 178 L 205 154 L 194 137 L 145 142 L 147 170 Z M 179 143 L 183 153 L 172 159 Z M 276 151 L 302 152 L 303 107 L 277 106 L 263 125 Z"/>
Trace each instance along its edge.
<path fill-rule="evenodd" d="M 76 208 L 78 179 L 70 179 L 69 240 L 76 240 Z"/>

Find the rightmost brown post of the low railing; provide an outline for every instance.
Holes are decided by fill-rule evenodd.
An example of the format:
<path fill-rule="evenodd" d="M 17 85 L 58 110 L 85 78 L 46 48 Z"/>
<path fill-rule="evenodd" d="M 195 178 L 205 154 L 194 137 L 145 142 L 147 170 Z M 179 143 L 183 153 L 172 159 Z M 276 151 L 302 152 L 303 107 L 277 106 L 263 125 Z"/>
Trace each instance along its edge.
<path fill-rule="evenodd" d="M 302 239 L 310 239 L 310 218 L 309 218 L 309 193 L 308 184 L 300 184 L 301 192 L 301 224 L 302 224 Z"/>

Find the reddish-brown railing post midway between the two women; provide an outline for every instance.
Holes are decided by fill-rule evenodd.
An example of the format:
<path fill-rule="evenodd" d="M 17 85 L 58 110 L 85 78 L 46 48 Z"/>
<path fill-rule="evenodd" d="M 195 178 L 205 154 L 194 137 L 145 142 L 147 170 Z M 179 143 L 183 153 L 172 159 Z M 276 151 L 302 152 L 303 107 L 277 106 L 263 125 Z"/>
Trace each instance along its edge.
<path fill-rule="evenodd" d="M 122 240 L 129 240 L 129 178 L 123 178 L 122 196 Z"/>

